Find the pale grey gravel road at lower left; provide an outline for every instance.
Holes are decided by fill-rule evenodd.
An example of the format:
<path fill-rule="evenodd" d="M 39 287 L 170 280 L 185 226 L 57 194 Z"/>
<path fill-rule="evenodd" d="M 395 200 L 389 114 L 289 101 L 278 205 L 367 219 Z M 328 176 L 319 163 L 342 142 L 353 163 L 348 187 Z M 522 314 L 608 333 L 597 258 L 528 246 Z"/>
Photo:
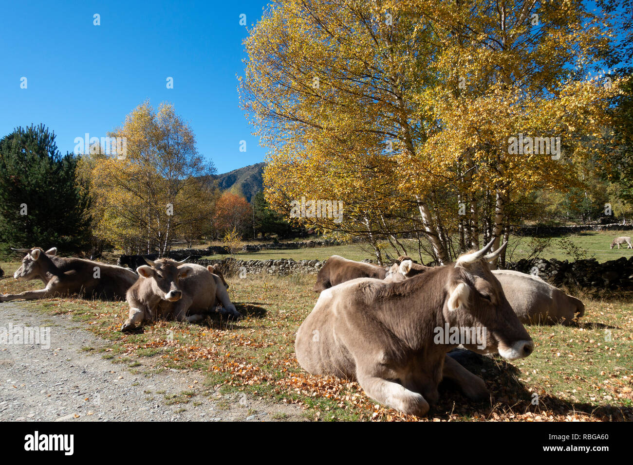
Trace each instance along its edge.
<path fill-rule="evenodd" d="M 50 347 L 0 342 L 0 421 L 302 421 L 301 407 L 244 394 L 208 392 L 196 371 L 130 373 L 103 359 L 108 342 L 69 315 L 49 316 L 20 302 L 0 304 L 0 332 L 50 328 Z M 6 332 L 6 330 L 5 330 Z M 172 403 L 190 394 L 187 403 Z"/>

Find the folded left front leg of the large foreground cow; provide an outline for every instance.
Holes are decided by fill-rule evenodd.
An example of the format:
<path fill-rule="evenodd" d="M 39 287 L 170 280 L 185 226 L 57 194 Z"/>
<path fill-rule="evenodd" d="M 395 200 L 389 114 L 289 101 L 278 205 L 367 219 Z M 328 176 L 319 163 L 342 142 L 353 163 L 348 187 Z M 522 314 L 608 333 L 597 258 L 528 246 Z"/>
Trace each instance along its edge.
<path fill-rule="evenodd" d="M 429 411 L 429 402 L 422 394 L 410 391 L 403 385 L 387 381 L 370 373 L 356 373 L 358 383 L 368 396 L 406 414 L 424 416 Z"/>

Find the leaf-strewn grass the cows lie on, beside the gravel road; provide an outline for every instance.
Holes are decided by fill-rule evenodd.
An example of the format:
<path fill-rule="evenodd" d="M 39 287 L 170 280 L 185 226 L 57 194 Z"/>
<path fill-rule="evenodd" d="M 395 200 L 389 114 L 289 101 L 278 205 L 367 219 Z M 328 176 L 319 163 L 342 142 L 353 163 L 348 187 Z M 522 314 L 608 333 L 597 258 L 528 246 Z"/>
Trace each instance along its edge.
<path fill-rule="evenodd" d="M 18 264 L 0 265 L 12 272 Z M 294 335 L 316 302 L 313 280 L 229 278 L 231 299 L 246 315 L 242 321 L 158 321 L 130 335 L 118 332 L 127 316 L 125 302 L 49 299 L 28 305 L 46 314 L 72 314 L 80 328 L 112 342 L 104 358 L 125 363 L 130 370 L 198 370 L 209 387 L 300 404 L 310 419 L 417 419 L 380 407 L 356 383 L 311 376 L 298 366 Z M 0 280 L 3 294 L 38 287 L 39 282 Z M 500 358 L 468 358 L 466 366 L 491 390 L 489 402 L 470 402 L 451 385 L 442 385 L 439 404 L 422 420 L 633 420 L 631 297 L 585 298 L 586 315 L 579 326 L 527 326 L 536 348 L 526 359 L 506 363 Z"/>

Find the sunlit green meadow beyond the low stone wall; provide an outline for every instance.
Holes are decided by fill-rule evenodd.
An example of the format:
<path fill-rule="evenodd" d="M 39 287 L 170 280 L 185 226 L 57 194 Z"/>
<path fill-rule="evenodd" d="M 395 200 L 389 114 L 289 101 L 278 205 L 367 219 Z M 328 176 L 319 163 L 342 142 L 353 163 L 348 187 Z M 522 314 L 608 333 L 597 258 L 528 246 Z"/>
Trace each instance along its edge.
<path fill-rule="evenodd" d="M 630 257 L 633 255 L 633 249 L 620 249 L 618 250 L 609 248 L 611 241 L 618 236 L 630 236 L 633 235 L 631 231 L 608 231 L 608 232 L 583 232 L 568 235 L 565 239 L 570 240 L 574 245 L 587 252 L 587 258 L 594 257 L 598 261 L 603 262 L 607 260 L 617 259 L 625 256 Z M 517 261 L 518 259 L 529 256 L 530 240 L 532 237 L 518 237 L 511 235 L 510 244 L 508 244 L 508 261 Z M 559 260 L 572 260 L 573 257 L 569 254 L 565 254 L 558 243 L 559 239 L 553 239 L 552 247 L 549 247 L 544 252 L 539 254 L 542 258 L 556 258 Z M 416 240 L 403 240 L 401 241 L 406 247 L 407 252 L 413 259 L 419 260 L 417 252 Z M 387 249 L 387 253 L 395 257 L 396 253 L 393 249 Z M 294 249 L 294 250 L 272 250 L 261 252 L 239 252 L 235 254 L 235 258 L 242 260 L 268 260 L 268 259 L 282 259 L 291 258 L 294 260 L 323 260 L 332 255 L 340 255 L 351 260 L 362 260 L 365 258 L 375 258 L 372 256 L 372 252 L 364 244 L 350 244 L 350 245 L 334 245 L 329 247 L 315 247 L 313 249 Z M 223 258 L 221 255 L 210 255 L 205 258 L 217 259 Z M 422 259 L 424 263 L 430 261 L 430 257 L 423 255 Z"/>

